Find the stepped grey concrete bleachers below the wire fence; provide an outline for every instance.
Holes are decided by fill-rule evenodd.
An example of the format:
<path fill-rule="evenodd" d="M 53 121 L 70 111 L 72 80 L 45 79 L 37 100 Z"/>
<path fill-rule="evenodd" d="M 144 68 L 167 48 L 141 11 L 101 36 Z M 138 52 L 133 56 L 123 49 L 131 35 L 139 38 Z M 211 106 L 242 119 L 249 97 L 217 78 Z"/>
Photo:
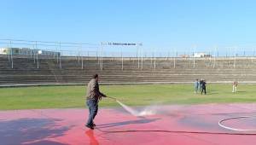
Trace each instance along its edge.
<path fill-rule="evenodd" d="M 136 82 L 192 82 L 195 78 L 206 78 L 210 82 L 221 81 L 256 81 L 256 61 L 237 59 L 212 60 L 177 59 L 174 61 L 158 58 L 155 62 L 150 58 L 139 63 L 135 58 L 113 59 L 103 58 L 103 69 L 96 58 L 84 58 L 81 61 L 64 57 L 60 61 L 39 59 L 38 63 L 30 58 L 14 58 L 11 68 L 9 58 L 0 56 L 0 84 L 55 84 L 84 83 L 94 73 L 99 73 L 103 83 L 136 83 Z M 213 65 L 215 65 L 213 67 Z"/>

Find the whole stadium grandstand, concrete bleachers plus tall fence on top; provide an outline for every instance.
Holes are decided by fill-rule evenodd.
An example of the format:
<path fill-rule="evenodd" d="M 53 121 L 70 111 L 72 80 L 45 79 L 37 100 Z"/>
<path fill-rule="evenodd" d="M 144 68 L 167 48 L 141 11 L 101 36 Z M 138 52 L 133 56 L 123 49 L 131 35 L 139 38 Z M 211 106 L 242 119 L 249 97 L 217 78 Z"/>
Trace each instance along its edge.
<path fill-rule="evenodd" d="M 0 85 L 85 84 L 99 73 L 102 84 L 256 83 L 254 50 L 230 52 L 110 52 L 111 44 L 1 39 Z M 125 45 L 125 46 L 123 46 Z M 133 46 L 130 46 L 133 45 Z M 227 55 L 229 54 L 229 55 Z M 235 54 L 235 55 L 234 55 Z"/>

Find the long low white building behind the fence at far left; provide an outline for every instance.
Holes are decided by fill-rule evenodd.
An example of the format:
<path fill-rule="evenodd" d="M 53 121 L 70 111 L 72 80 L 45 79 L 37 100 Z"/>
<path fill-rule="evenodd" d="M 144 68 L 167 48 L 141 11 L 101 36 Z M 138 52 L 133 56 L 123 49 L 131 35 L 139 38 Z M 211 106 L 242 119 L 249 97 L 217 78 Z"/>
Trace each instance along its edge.
<path fill-rule="evenodd" d="M 0 48 L 0 55 L 61 55 L 60 52 L 29 49 L 29 48 Z"/>

